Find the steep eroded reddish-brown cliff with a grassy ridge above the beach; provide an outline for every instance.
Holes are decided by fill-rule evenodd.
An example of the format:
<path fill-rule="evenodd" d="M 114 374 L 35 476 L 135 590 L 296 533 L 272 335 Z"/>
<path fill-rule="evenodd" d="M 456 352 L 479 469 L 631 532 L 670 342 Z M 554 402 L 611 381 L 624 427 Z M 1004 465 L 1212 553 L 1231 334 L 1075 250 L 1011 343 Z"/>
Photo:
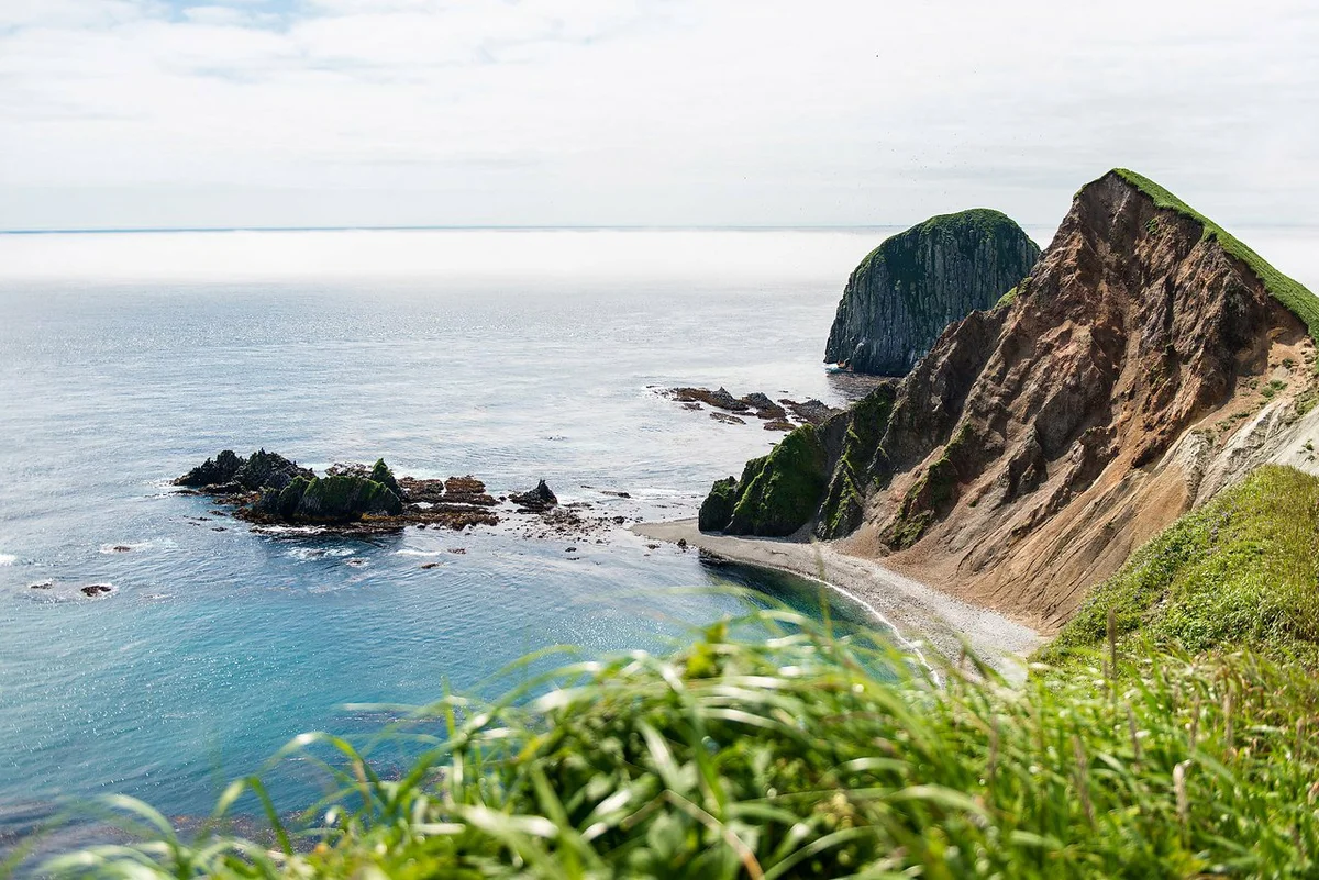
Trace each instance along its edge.
<path fill-rule="evenodd" d="M 1310 454 L 1293 423 L 1315 397 L 1316 303 L 1165 190 L 1112 171 L 1076 195 L 1016 298 L 951 324 L 901 385 L 815 429 L 828 477 L 794 522 L 1057 627 L 1252 462 Z M 748 490 L 725 489 L 735 510 L 756 505 Z"/>

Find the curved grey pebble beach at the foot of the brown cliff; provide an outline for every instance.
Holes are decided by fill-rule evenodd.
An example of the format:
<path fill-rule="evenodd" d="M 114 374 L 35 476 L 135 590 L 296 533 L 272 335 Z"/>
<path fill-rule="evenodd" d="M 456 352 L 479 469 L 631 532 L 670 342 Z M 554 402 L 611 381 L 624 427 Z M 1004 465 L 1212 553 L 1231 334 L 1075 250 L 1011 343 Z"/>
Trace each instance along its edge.
<path fill-rule="evenodd" d="M 1025 680 L 1026 657 L 1045 642 L 1037 631 L 997 611 L 926 586 L 876 560 L 844 553 L 832 541 L 707 535 L 695 519 L 640 523 L 632 531 L 652 540 L 685 540 L 735 563 L 823 581 L 868 607 L 918 652 L 927 655 L 933 648 L 956 663 L 966 647 L 1012 682 Z"/>

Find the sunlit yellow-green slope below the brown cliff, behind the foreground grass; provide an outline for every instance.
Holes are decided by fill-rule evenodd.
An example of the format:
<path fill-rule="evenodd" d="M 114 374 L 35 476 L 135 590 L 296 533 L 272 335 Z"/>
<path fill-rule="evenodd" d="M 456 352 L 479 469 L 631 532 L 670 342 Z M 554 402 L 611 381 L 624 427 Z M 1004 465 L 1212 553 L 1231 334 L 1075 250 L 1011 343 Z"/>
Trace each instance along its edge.
<path fill-rule="evenodd" d="M 1060 661 L 1140 634 L 1199 652 L 1319 656 L 1319 478 L 1257 469 L 1169 526 L 1095 589 L 1041 653 Z"/>

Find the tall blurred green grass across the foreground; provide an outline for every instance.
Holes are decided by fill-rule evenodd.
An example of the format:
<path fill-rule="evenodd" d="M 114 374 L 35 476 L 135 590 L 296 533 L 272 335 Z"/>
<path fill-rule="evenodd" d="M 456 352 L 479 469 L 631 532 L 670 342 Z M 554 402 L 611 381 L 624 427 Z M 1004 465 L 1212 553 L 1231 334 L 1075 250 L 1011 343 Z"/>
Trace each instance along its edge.
<path fill-rule="evenodd" d="M 1187 877 L 1319 871 L 1319 681 L 1252 655 L 1124 648 L 1109 672 L 934 685 L 801 619 L 669 656 L 578 664 L 423 715 L 429 751 L 383 779 L 298 738 L 336 793 L 268 839 L 182 839 L 145 805 L 132 844 L 42 872 L 120 877 Z M 973 663 L 971 664 L 973 665 Z"/>

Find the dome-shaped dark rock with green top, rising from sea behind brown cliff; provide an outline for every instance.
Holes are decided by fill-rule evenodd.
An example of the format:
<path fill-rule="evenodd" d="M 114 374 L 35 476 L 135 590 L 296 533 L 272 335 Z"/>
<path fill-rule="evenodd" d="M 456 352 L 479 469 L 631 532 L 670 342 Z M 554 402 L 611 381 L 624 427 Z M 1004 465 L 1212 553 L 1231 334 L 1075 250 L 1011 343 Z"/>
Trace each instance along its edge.
<path fill-rule="evenodd" d="M 824 360 L 906 375 L 944 327 L 991 308 L 1038 257 L 1035 242 L 997 211 L 931 217 L 885 240 L 852 271 Z"/>

